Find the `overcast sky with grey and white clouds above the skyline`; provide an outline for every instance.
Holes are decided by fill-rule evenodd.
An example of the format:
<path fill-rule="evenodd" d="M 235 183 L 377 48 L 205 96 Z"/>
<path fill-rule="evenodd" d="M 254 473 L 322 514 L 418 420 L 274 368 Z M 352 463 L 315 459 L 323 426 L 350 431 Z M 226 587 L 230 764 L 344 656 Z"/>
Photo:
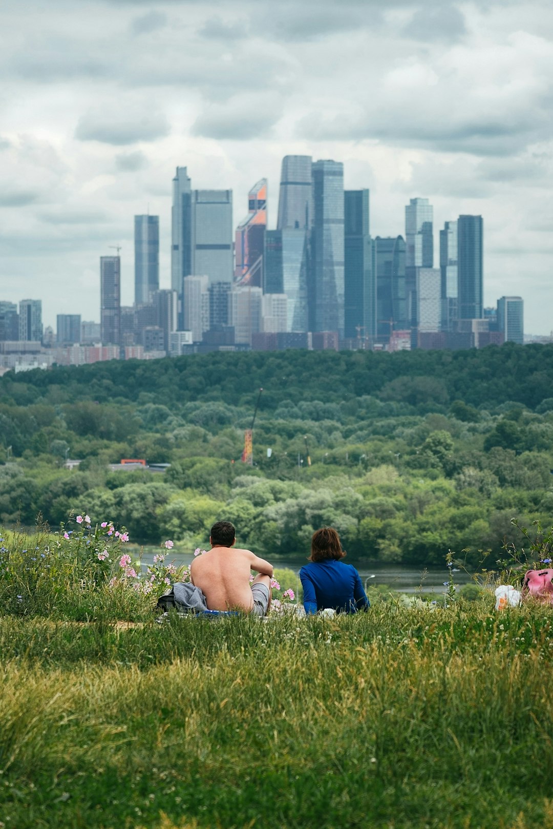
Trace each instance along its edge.
<path fill-rule="evenodd" d="M 246 193 L 285 154 L 334 158 L 370 187 L 372 235 L 405 204 L 484 219 L 484 302 L 553 328 L 553 7 L 545 0 L 12 0 L 0 7 L 0 299 L 99 320 L 99 256 L 171 180 Z M 435 262 L 434 264 L 438 264 Z"/>

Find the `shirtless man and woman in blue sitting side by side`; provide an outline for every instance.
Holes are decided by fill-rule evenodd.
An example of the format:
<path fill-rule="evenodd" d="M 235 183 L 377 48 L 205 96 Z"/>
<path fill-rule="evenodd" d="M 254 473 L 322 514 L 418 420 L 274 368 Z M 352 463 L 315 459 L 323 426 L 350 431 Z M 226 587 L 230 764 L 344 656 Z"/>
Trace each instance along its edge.
<path fill-rule="evenodd" d="M 273 565 L 250 550 L 235 548 L 235 528 L 229 521 L 217 521 L 211 527 L 209 541 L 211 550 L 198 555 L 190 569 L 192 585 L 205 597 L 206 609 L 266 616 L 271 604 Z M 355 567 L 342 562 L 344 555 L 340 537 L 332 527 L 313 533 L 309 564 L 299 571 L 303 608 L 308 615 L 325 608 L 356 613 L 369 607 L 361 578 Z M 257 573 L 252 583 L 251 570 Z"/>

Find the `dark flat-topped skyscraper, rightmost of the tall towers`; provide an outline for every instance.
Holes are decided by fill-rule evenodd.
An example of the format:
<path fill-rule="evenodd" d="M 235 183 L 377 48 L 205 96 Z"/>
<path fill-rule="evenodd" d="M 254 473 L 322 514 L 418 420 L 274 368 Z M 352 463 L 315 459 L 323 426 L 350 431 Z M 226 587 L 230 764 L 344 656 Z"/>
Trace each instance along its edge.
<path fill-rule="evenodd" d="M 483 316 L 483 219 L 459 216 L 457 221 L 458 318 Z"/>

